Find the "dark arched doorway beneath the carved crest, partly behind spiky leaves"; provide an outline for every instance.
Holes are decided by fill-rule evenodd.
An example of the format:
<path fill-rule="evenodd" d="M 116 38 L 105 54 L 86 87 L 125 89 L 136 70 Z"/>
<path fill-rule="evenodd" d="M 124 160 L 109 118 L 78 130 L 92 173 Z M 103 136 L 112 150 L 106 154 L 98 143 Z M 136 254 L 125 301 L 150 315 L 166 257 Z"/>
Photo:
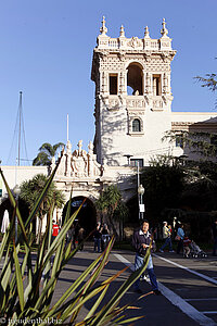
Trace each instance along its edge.
<path fill-rule="evenodd" d="M 81 205 L 85 199 L 86 201 L 82 204 L 82 208 L 76 217 L 75 224 L 85 228 L 86 235 L 89 235 L 95 228 L 95 224 L 97 224 L 97 211 L 93 202 L 90 199 L 82 196 L 74 197 L 72 199 L 71 215 L 73 215 L 73 213 L 77 211 L 77 209 Z M 64 223 L 65 220 L 67 205 L 68 202 L 65 204 L 63 209 L 62 223 Z"/>

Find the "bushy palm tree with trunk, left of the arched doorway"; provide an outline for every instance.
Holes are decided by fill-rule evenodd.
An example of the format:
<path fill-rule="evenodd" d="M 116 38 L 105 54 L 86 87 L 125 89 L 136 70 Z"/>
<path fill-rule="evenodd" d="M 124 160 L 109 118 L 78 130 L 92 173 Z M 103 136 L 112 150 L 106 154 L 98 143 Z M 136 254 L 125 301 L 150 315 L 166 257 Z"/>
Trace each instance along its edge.
<path fill-rule="evenodd" d="M 39 195 L 42 192 L 47 181 L 47 176 L 43 174 L 37 174 L 33 179 L 26 180 L 21 185 L 20 198 L 23 199 L 29 210 L 31 211 Z M 46 214 L 49 214 L 53 208 L 61 209 L 64 205 L 65 197 L 64 193 L 56 189 L 55 185 L 51 183 L 51 186 L 38 210 L 39 227 L 38 227 L 38 239 L 41 239 L 41 226 L 42 220 Z"/>

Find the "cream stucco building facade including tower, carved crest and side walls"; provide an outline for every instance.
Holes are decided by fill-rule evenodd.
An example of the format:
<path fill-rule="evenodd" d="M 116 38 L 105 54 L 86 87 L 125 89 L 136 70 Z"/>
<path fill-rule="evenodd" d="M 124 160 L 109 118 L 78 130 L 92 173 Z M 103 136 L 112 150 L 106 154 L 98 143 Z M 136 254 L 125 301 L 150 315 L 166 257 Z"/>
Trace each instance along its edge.
<path fill-rule="evenodd" d="M 95 83 L 94 142 L 90 141 L 86 151 L 81 140 L 77 149 L 68 141 L 54 177 L 66 201 L 72 191 L 73 198 L 86 197 L 94 202 L 108 184 L 117 184 L 127 201 L 137 192 L 129 178 L 137 174 L 137 167 L 130 162 L 140 160 L 141 167 L 157 154 L 183 154 L 180 147 L 162 141 L 166 131 L 217 131 L 217 113 L 171 112 L 170 63 L 176 50 L 165 21 L 158 39 L 150 37 L 148 27 L 141 39 L 126 38 L 123 26 L 119 37 L 111 38 L 104 18 L 100 33 L 91 72 Z M 53 158 L 50 171 L 54 166 Z M 11 189 L 37 174 L 49 174 L 46 166 L 1 168 Z M 2 183 L 1 201 L 5 198 Z M 56 220 L 61 214 L 56 211 Z"/>

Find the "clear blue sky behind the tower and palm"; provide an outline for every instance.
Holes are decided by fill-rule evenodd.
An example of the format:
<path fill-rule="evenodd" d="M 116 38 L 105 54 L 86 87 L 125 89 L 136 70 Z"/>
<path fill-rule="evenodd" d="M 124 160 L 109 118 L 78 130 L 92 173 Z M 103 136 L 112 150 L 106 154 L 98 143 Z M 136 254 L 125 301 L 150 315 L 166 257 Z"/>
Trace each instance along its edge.
<path fill-rule="evenodd" d="M 215 95 L 193 77 L 215 73 L 217 60 L 216 0 L 155 1 L 0 1 L 0 110 L 2 164 L 15 164 L 12 150 L 18 93 L 28 159 L 43 142 L 66 142 L 66 116 L 73 148 L 94 137 L 92 51 L 102 16 L 107 35 L 161 37 L 165 17 L 177 54 L 171 65 L 173 111 L 213 111 Z M 24 155 L 24 154 L 23 154 Z"/>

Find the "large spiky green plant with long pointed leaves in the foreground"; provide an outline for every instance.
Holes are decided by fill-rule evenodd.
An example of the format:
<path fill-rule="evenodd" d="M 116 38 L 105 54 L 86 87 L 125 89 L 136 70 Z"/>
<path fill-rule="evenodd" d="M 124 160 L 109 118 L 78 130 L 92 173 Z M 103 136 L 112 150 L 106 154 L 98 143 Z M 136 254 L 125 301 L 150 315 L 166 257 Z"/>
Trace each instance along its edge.
<path fill-rule="evenodd" d="M 59 164 L 58 164 L 59 165 Z M 58 168 L 56 165 L 56 168 Z M 106 280 L 99 283 L 99 277 L 108 261 L 114 238 L 111 239 L 106 250 L 93 261 L 87 269 L 68 287 L 66 292 L 53 305 L 51 301 L 54 294 L 60 273 L 67 262 L 73 259 L 79 247 L 71 250 L 71 244 L 65 246 L 65 236 L 71 228 L 80 208 L 69 216 L 71 201 L 68 203 L 64 225 L 53 242 L 51 242 L 52 233 L 52 210 L 48 216 L 46 234 L 41 246 L 37 249 L 36 262 L 33 262 L 33 235 L 31 222 L 43 200 L 49 186 L 53 179 L 56 168 L 48 179 L 42 193 L 36 201 L 26 223 L 24 224 L 13 195 L 7 184 L 2 171 L 0 174 L 7 187 L 10 201 L 14 208 L 12 221 L 7 233 L 3 236 L 0 247 L 0 261 L 2 269 L 0 274 L 0 321 L 4 325 L 44 325 L 44 321 L 50 324 L 66 325 L 122 325 L 128 324 L 143 316 L 127 318 L 124 312 L 129 309 L 130 304 L 118 306 L 122 297 L 144 272 L 150 250 L 144 258 L 144 265 L 133 272 L 126 281 L 123 283 L 115 296 L 102 305 L 103 299 L 106 299 L 106 292 L 114 281 L 126 268 L 117 272 Z M 14 221 L 15 215 L 18 218 L 21 233 L 17 241 L 14 240 Z M 13 243 L 10 247 L 10 243 Z M 24 246 L 22 259 L 18 258 L 21 246 Z M 11 249 L 10 249 L 11 248 Z M 5 253 L 3 260 L 3 253 Z M 53 262 L 51 263 L 51 260 Z M 98 283 L 97 283 L 98 281 Z M 41 287 L 42 285 L 42 287 Z M 95 301 L 82 322 L 77 322 L 79 312 L 87 301 L 95 297 Z M 106 300 L 105 300 L 106 301 Z"/>

